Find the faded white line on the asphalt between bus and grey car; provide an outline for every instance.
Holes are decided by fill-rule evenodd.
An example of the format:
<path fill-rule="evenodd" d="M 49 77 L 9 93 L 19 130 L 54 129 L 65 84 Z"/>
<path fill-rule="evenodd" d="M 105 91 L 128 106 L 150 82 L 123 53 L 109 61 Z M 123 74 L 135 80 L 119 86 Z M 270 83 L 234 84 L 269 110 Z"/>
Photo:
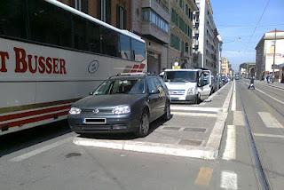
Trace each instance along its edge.
<path fill-rule="evenodd" d="M 28 152 L 26 154 L 21 154 L 21 155 L 19 155 L 17 157 L 14 157 L 14 158 L 10 159 L 9 161 L 10 162 L 20 162 L 20 161 L 26 160 L 26 159 L 28 159 L 28 158 L 36 155 L 36 154 L 41 154 L 41 153 L 43 153 L 45 151 L 51 150 L 52 148 L 54 148 L 56 146 L 63 145 L 65 143 L 71 141 L 72 139 L 73 138 L 67 138 L 67 139 L 59 140 L 59 141 L 57 141 L 57 142 L 55 142 L 55 143 L 53 143 L 51 145 L 40 147 L 40 148 L 38 148 L 36 150 L 33 150 L 33 151 L 30 151 L 30 152 Z"/>

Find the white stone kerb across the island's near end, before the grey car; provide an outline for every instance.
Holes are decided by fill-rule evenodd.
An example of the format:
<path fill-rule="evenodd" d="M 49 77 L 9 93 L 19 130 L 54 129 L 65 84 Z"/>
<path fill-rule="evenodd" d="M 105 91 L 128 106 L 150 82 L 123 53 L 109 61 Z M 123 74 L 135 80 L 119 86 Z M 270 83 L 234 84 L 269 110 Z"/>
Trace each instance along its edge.
<path fill-rule="evenodd" d="M 183 157 L 202 158 L 213 160 L 217 158 L 218 150 L 215 148 L 196 148 L 195 146 L 181 146 L 161 143 L 128 141 L 128 140 L 100 140 L 74 138 L 73 143 L 78 146 L 105 147 L 118 150 L 128 150 L 141 153 L 167 154 Z"/>

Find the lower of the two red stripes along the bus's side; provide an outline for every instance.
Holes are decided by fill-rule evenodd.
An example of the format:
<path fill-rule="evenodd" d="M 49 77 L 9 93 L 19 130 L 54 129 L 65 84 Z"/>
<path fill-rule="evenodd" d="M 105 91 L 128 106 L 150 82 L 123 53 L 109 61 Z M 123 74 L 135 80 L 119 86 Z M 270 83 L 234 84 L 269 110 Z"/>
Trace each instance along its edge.
<path fill-rule="evenodd" d="M 59 117 L 59 116 L 67 115 L 67 114 L 68 114 L 68 111 L 64 111 L 64 112 L 59 112 L 59 113 L 56 113 L 56 114 L 33 117 L 33 118 L 25 119 L 25 120 L 20 120 L 20 121 L 17 121 L 17 122 L 12 122 L 12 123 L 3 123 L 3 124 L 0 124 L 0 129 L 3 128 L 3 127 L 20 126 L 20 125 L 27 124 L 27 123 L 36 123 L 36 122 L 40 122 L 40 121 L 43 121 L 43 120 L 54 118 L 54 116 Z"/>

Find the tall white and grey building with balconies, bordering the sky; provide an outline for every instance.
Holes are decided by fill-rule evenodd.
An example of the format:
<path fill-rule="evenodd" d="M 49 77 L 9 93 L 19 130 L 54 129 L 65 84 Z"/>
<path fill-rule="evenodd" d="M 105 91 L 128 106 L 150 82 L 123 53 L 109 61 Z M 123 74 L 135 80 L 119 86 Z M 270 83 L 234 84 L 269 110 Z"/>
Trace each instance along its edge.
<path fill-rule="evenodd" d="M 218 73 L 219 40 L 209 0 L 195 1 L 199 10 L 193 20 L 193 65 Z"/>

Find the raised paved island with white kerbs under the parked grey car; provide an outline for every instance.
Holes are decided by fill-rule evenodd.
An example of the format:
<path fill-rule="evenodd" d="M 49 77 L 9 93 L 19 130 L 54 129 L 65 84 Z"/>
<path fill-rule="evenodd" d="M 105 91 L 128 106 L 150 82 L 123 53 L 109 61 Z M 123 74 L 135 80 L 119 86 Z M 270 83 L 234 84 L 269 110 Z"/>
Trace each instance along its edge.
<path fill-rule="evenodd" d="M 170 121 L 152 123 L 152 132 L 146 138 L 97 136 L 91 139 L 76 137 L 73 141 L 79 146 L 216 159 L 232 96 L 232 84 L 226 84 L 201 105 L 171 105 Z"/>

